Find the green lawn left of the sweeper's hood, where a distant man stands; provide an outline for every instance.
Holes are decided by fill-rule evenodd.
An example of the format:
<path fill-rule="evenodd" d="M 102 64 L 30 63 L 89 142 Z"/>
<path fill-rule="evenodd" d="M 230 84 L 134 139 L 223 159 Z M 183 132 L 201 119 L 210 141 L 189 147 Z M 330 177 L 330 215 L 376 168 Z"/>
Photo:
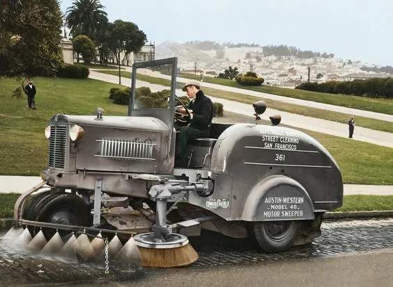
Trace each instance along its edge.
<path fill-rule="evenodd" d="M 55 113 L 127 115 L 128 108 L 112 104 L 109 88 L 116 84 L 92 79 L 33 79 L 37 109 L 27 108 L 26 97 L 13 99 L 18 82 L 0 78 L 0 174 L 38 175 L 47 165 L 44 129 Z"/>

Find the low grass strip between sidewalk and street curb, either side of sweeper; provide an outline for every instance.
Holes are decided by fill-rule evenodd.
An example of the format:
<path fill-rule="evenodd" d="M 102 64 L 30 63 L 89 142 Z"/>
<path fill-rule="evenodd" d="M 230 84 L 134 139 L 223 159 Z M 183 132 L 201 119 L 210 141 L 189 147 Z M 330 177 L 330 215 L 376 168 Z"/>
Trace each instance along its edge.
<path fill-rule="evenodd" d="M 0 218 L 12 218 L 16 193 L 0 194 Z M 335 211 L 393 211 L 393 195 L 345 195 Z"/>

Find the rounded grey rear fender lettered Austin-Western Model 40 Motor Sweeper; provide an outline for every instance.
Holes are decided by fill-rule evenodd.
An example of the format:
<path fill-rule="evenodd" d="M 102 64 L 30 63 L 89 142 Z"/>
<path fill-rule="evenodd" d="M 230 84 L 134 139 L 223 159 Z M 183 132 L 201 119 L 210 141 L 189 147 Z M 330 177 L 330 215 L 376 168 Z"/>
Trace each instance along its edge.
<path fill-rule="evenodd" d="M 314 220 L 314 206 L 303 186 L 284 175 L 266 177 L 252 188 L 242 220 Z"/>

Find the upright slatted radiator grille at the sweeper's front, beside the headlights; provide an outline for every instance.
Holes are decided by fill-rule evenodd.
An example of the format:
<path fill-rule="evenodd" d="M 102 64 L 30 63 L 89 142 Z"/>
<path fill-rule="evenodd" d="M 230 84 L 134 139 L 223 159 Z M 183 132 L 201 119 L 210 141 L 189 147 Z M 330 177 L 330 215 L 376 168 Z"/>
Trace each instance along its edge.
<path fill-rule="evenodd" d="M 67 126 L 50 126 L 49 167 L 64 168 Z"/>

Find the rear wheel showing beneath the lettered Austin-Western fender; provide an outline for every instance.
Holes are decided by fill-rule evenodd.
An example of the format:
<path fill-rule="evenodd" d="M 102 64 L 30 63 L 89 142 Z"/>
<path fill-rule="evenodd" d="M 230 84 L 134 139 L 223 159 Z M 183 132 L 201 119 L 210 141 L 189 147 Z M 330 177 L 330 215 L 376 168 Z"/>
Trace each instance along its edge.
<path fill-rule="evenodd" d="M 259 246 L 265 252 L 284 252 L 293 245 L 298 228 L 298 221 L 255 222 L 254 235 Z"/>

